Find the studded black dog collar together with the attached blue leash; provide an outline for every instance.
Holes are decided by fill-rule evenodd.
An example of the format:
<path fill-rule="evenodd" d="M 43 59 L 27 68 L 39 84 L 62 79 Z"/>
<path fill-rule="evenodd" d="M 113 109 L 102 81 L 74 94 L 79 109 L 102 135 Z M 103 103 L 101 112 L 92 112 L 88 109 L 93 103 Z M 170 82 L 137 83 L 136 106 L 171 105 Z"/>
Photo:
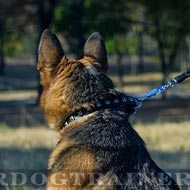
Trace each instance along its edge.
<path fill-rule="evenodd" d="M 93 108 L 81 108 L 80 110 L 74 112 L 71 114 L 65 122 L 65 125 L 68 125 L 71 121 L 76 120 L 79 117 L 82 117 L 84 115 L 88 115 L 90 113 L 93 113 L 98 110 L 103 109 L 110 109 L 110 108 L 126 108 L 127 110 L 130 109 L 128 114 L 132 114 L 136 112 L 138 108 L 141 107 L 142 103 L 160 93 L 165 92 L 167 89 L 171 87 L 175 87 L 177 84 L 180 84 L 184 80 L 190 77 L 190 70 L 178 75 L 177 77 L 169 80 L 163 85 L 160 85 L 151 91 L 147 92 L 142 97 L 133 97 L 133 96 L 126 96 L 121 95 L 120 97 L 114 98 L 114 99 L 103 99 L 95 102 Z"/>

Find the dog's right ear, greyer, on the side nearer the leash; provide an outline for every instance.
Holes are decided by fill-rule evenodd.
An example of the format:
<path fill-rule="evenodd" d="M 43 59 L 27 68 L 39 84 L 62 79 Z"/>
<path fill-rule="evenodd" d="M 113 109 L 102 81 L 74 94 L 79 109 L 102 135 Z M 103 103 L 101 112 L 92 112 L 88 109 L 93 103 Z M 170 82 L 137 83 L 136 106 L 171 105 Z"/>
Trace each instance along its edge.
<path fill-rule="evenodd" d="M 84 46 L 84 56 L 91 57 L 99 63 L 99 67 L 107 72 L 108 60 L 107 50 L 102 36 L 94 32 L 86 41 Z"/>

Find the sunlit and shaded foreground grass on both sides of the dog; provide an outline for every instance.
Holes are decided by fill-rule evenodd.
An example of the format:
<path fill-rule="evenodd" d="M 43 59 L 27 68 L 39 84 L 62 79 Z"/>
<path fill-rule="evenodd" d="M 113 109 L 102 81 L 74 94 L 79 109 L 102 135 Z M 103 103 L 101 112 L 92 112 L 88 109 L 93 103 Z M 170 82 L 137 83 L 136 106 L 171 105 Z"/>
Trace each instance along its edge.
<path fill-rule="evenodd" d="M 163 169 L 186 169 L 190 168 L 190 122 L 181 123 L 155 123 L 155 124 L 136 124 L 135 129 L 147 144 L 147 148 L 151 152 L 154 160 Z M 6 126 L 1 126 L 0 133 L 0 149 L 9 150 L 7 154 L 13 154 L 16 150 L 18 154 L 15 159 L 22 160 L 22 156 L 29 154 L 30 167 L 39 166 L 42 162 L 47 162 L 47 155 L 58 140 L 58 135 L 43 126 L 36 128 L 21 127 L 11 129 Z M 46 151 L 47 150 L 47 151 Z M 12 152 L 13 151 L 13 152 Z M 21 151 L 21 152 L 20 152 Z M 45 151 L 45 158 L 43 156 Z M 31 155 L 39 153 L 41 155 L 36 161 Z M 20 156 L 19 156 L 20 154 Z M 30 155 L 31 154 L 31 155 Z M 15 162 L 13 158 L 7 156 L 8 162 Z M 25 168 L 22 161 L 18 167 Z M 3 164 L 3 163 L 1 163 Z M 13 164 L 14 165 L 14 164 Z M 2 166 L 1 166 L 2 167 Z"/>

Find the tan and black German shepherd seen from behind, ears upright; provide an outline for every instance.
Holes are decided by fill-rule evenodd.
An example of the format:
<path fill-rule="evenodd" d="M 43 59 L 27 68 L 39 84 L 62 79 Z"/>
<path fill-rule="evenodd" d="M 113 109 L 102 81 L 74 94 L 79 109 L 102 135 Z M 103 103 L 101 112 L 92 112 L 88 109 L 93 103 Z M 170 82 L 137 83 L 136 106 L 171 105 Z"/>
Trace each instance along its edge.
<path fill-rule="evenodd" d="M 98 32 L 79 60 L 68 59 L 48 29 L 38 51 L 40 106 L 60 133 L 48 163 L 48 190 L 179 189 L 129 123 L 130 105 L 97 109 L 97 102 L 123 96 L 106 75 L 107 51 Z"/>

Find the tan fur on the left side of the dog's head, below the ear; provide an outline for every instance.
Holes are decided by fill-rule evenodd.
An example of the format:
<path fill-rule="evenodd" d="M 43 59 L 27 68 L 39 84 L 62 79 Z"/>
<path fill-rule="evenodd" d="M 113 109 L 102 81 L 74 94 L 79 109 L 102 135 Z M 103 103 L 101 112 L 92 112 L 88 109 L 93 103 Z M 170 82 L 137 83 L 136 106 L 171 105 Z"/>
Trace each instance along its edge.
<path fill-rule="evenodd" d="M 43 92 L 40 98 L 40 107 L 44 110 L 49 125 L 59 130 L 62 128 L 64 120 L 73 110 L 69 109 L 69 106 L 64 101 L 64 76 L 67 72 L 67 67 L 63 70 L 67 59 L 63 57 L 58 67 L 54 68 L 58 70 L 58 75 L 51 76 L 49 68 L 44 68 L 40 72 L 41 84 L 43 85 Z M 71 69 L 69 67 L 69 69 Z M 70 70 L 71 71 L 71 70 Z M 45 82 L 46 81 L 46 82 Z M 47 82 L 49 81 L 49 83 Z"/>

